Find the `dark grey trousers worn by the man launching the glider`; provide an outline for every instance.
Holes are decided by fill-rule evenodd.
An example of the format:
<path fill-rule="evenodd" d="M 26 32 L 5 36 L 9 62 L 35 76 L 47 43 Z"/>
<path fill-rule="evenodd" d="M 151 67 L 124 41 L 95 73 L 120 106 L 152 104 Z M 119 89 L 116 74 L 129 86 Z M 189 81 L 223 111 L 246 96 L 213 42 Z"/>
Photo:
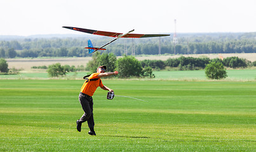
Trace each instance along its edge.
<path fill-rule="evenodd" d="M 94 127 L 94 120 L 93 120 L 93 98 L 80 92 L 79 94 L 79 102 L 84 110 L 83 116 L 79 119 L 79 122 L 86 122 L 88 123 L 89 128 Z"/>

